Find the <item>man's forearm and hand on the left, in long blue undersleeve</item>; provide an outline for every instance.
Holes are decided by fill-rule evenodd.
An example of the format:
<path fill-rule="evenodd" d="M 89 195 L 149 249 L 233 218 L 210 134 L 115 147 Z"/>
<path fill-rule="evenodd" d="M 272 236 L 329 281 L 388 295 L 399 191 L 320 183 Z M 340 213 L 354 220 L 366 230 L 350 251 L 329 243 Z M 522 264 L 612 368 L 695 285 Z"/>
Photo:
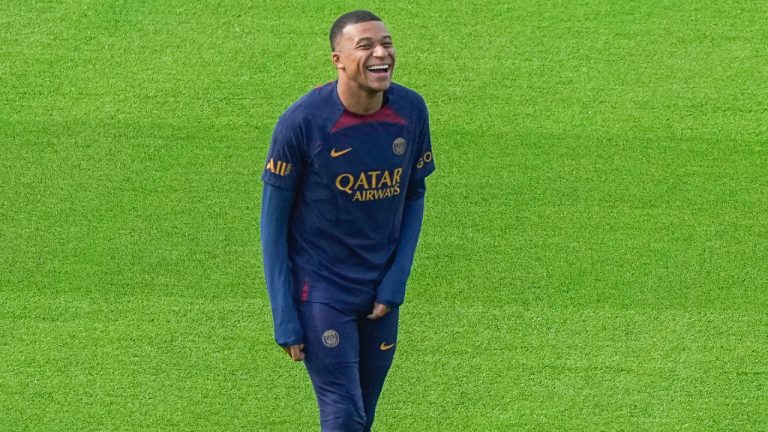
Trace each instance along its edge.
<path fill-rule="evenodd" d="M 301 360 L 304 331 L 293 302 L 291 274 L 288 261 L 288 220 L 293 206 L 294 191 L 264 184 L 261 201 L 261 246 L 264 256 L 264 275 L 272 306 L 275 341 L 288 351 L 294 360 Z M 301 354 L 301 358 L 291 351 Z"/>

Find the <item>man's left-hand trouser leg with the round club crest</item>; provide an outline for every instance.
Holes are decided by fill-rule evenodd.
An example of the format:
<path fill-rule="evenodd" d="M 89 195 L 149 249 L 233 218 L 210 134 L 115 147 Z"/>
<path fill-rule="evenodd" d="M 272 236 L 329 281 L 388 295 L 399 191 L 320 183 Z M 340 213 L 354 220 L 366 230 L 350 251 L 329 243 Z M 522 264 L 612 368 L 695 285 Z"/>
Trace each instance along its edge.
<path fill-rule="evenodd" d="M 362 431 L 357 313 L 322 303 L 299 303 L 298 311 L 304 328 L 304 364 L 315 388 L 322 430 Z"/>

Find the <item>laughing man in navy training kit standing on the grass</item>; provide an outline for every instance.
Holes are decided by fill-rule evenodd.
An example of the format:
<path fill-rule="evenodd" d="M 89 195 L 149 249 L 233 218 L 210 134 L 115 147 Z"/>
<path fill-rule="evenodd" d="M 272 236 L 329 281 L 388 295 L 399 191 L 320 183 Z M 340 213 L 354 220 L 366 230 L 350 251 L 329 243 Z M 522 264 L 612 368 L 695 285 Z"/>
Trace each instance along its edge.
<path fill-rule="evenodd" d="M 275 340 L 304 361 L 324 431 L 370 431 L 392 364 L 434 171 L 427 109 L 392 83 L 395 50 L 368 11 L 330 32 L 338 80 L 277 122 L 261 236 Z"/>

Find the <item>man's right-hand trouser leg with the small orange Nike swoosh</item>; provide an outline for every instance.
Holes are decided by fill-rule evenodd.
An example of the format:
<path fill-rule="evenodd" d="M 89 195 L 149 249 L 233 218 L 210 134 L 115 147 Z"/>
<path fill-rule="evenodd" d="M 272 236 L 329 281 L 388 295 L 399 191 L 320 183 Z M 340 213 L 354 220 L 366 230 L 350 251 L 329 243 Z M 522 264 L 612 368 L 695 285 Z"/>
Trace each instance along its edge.
<path fill-rule="evenodd" d="M 371 430 L 376 404 L 395 356 L 399 309 L 394 308 L 378 320 L 363 315 L 360 319 L 360 388 L 365 409 L 365 431 Z"/>

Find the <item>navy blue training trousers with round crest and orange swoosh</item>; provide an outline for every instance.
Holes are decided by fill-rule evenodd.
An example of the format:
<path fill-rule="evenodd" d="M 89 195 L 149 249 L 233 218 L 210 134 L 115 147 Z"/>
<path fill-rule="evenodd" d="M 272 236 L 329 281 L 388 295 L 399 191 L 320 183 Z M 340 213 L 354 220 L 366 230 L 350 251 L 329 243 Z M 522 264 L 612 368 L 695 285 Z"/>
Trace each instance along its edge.
<path fill-rule="evenodd" d="M 322 430 L 370 431 L 395 355 L 398 308 L 378 320 L 324 303 L 299 303 L 298 311 Z"/>

